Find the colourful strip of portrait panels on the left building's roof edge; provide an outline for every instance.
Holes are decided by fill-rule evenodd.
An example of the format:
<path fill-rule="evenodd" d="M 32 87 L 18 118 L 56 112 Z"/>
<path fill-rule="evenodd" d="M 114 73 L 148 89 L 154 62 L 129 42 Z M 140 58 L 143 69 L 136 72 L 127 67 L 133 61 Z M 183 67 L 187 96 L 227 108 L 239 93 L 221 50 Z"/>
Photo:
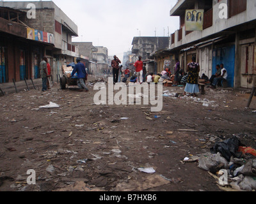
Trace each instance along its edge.
<path fill-rule="evenodd" d="M 28 33 L 27 38 L 29 40 L 36 40 L 36 41 L 42 41 L 45 43 L 54 44 L 54 34 L 38 31 L 30 27 L 27 28 L 27 33 Z"/>

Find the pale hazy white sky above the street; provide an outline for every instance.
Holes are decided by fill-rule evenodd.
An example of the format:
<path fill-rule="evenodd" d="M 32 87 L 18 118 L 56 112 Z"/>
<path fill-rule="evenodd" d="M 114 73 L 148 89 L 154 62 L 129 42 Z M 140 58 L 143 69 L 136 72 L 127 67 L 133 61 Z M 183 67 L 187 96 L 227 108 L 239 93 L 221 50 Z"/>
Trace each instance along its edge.
<path fill-rule="evenodd" d="M 78 26 L 73 41 L 107 47 L 109 56 L 131 50 L 134 36 L 168 36 L 179 29 L 170 17 L 177 0 L 53 0 Z"/>

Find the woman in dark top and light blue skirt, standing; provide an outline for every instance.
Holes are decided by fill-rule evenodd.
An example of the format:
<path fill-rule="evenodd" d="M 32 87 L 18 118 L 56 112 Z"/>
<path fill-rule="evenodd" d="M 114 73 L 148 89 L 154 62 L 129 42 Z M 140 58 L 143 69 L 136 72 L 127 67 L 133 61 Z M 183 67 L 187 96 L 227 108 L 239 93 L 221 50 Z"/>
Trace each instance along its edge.
<path fill-rule="evenodd" d="M 184 96 L 186 93 L 193 94 L 193 97 L 196 97 L 196 93 L 200 92 L 198 87 L 198 74 L 200 72 L 200 66 L 196 63 L 196 57 L 192 57 L 192 62 L 187 66 L 188 80 L 184 90 Z"/>

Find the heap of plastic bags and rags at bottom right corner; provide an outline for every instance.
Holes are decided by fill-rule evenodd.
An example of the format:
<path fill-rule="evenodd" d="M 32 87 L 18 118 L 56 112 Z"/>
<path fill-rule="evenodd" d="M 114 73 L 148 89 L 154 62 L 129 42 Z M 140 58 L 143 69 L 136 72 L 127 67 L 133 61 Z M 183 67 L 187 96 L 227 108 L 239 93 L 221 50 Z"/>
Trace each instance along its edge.
<path fill-rule="evenodd" d="M 198 167 L 209 171 L 221 189 L 256 190 L 256 150 L 244 147 L 236 136 L 216 142 L 210 152 L 201 154 L 196 159 Z"/>

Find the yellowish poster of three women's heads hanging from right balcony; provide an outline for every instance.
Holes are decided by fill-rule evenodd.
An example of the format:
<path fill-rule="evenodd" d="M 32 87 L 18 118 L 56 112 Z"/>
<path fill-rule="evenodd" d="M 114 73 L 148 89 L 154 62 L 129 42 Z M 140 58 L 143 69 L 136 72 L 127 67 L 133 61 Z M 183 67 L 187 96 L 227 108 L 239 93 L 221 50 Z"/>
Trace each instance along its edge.
<path fill-rule="evenodd" d="M 186 31 L 202 31 L 204 24 L 204 10 L 186 10 Z"/>

